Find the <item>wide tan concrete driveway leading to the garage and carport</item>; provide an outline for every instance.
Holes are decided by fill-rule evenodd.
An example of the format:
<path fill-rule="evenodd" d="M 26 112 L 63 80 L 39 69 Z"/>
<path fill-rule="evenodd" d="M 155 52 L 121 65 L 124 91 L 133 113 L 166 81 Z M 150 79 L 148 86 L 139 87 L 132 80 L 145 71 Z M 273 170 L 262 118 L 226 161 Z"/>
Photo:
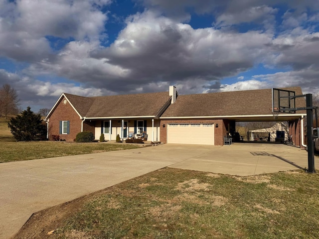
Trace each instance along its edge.
<path fill-rule="evenodd" d="M 165 144 L 1 163 L 0 239 L 13 236 L 34 212 L 166 166 L 246 176 L 305 168 L 307 160 L 306 150 L 293 146 L 238 143 Z"/>

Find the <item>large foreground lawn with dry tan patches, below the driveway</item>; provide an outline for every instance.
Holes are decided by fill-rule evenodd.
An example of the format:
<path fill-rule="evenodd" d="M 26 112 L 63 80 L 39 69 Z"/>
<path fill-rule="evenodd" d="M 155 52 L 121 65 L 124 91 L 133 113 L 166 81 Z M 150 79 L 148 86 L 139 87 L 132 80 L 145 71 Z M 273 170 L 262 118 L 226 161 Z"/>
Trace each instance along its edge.
<path fill-rule="evenodd" d="M 165 168 L 106 189 L 50 238 L 319 238 L 319 174 Z"/>

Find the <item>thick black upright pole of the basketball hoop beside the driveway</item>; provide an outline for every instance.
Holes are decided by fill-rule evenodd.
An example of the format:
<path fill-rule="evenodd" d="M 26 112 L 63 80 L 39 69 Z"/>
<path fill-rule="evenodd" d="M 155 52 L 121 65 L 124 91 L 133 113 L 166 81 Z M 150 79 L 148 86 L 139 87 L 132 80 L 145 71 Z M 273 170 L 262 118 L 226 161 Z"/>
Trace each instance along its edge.
<path fill-rule="evenodd" d="M 313 107 L 313 95 L 306 94 L 307 108 Z M 303 129 L 302 129 L 303 130 Z M 308 173 L 316 173 L 315 170 L 315 153 L 313 142 L 313 109 L 307 109 L 307 144 L 308 144 Z"/>

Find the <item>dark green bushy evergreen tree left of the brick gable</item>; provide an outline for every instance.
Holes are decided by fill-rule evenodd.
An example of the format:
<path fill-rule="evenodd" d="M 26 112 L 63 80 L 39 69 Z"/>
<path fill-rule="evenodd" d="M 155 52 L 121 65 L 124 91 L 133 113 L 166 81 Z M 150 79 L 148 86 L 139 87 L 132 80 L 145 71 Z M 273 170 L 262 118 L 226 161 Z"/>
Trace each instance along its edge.
<path fill-rule="evenodd" d="M 41 116 L 34 114 L 30 107 L 27 107 L 21 115 L 12 117 L 8 127 L 17 141 L 46 139 L 46 126 L 42 123 Z"/>

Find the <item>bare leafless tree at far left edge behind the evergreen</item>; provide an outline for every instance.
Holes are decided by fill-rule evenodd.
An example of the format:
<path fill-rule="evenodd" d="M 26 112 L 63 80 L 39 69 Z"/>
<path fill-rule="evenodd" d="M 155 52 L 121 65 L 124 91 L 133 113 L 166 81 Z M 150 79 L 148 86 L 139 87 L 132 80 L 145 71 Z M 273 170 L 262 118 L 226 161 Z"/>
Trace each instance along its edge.
<path fill-rule="evenodd" d="M 16 90 L 9 84 L 0 88 L 0 116 L 16 115 L 19 113 L 19 99 Z"/>

